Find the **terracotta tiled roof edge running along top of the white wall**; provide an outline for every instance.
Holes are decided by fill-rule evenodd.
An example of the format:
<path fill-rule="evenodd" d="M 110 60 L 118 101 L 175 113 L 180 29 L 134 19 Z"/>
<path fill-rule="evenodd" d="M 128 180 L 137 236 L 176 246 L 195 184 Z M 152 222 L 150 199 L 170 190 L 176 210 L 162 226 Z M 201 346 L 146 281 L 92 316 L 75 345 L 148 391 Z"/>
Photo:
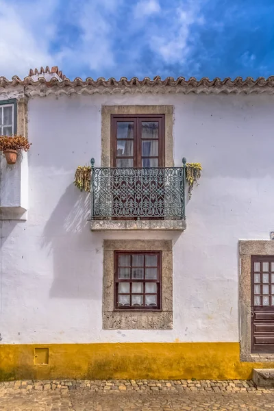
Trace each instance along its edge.
<path fill-rule="evenodd" d="M 40 77 L 38 81 L 34 82 L 32 75 L 39 75 L 43 73 L 56 73 L 62 79 L 62 81 L 57 78 L 52 78 L 50 81 L 46 81 L 45 78 Z M 202 79 L 196 79 L 195 77 L 190 77 L 185 79 L 184 77 L 178 77 L 174 79 L 173 77 L 166 77 L 166 79 L 161 79 L 157 76 L 154 79 L 145 77 L 144 79 L 138 79 L 133 77 L 132 79 L 127 79 L 127 77 L 121 77 L 121 79 L 116 80 L 114 78 L 104 79 L 100 77 L 95 80 L 88 77 L 83 80 L 76 77 L 74 80 L 70 80 L 62 71 L 58 69 L 58 66 L 52 67 L 51 70 L 49 66 L 45 69 L 43 67 L 38 69 L 30 70 L 29 76 L 25 79 L 20 79 L 17 76 L 12 77 L 12 80 L 8 80 L 5 77 L 0 77 L 0 87 L 7 88 L 9 86 L 24 86 L 27 95 L 49 95 L 55 93 L 60 94 L 114 94 L 114 93 L 177 93 L 182 92 L 188 94 L 190 92 L 195 92 L 199 94 L 200 92 L 210 94 L 219 94 L 224 92 L 226 94 L 230 93 L 262 93 L 268 92 L 269 94 L 274 94 L 274 76 L 269 78 L 258 77 L 253 79 L 252 77 L 247 77 L 242 79 L 242 77 L 236 77 L 236 79 L 231 79 L 229 77 L 221 80 L 219 77 L 215 79 L 208 79 L 208 77 L 203 77 Z"/>

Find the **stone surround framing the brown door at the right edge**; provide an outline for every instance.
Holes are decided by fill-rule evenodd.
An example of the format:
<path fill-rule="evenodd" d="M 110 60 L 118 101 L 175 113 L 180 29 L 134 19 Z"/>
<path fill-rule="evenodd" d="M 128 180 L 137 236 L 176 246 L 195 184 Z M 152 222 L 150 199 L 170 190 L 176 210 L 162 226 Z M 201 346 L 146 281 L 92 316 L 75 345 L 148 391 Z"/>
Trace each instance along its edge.
<path fill-rule="evenodd" d="M 273 256 L 273 240 L 240 240 L 240 360 L 273 362 L 274 354 L 251 353 L 251 256 Z"/>

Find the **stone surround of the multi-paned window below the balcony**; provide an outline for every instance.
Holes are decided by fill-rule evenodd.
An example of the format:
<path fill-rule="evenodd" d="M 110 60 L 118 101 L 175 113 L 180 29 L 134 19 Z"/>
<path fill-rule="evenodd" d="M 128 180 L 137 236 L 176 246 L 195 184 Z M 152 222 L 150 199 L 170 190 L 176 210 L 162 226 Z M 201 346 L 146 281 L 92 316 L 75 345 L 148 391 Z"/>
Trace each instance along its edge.
<path fill-rule="evenodd" d="M 114 251 L 162 251 L 162 310 L 114 309 Z M 173 328 L 172 240 L 103 241 L 103 329 Z"/>

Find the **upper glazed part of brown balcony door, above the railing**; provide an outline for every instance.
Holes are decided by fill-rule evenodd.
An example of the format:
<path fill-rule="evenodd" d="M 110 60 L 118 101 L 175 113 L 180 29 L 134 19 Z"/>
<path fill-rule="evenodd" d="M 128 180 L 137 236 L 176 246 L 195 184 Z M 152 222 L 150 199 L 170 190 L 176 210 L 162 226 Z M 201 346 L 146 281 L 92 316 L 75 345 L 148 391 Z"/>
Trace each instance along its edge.
<path fill-rule="evenodd" d="M 112 167 L 164 167 L 164 114 L 112 116 Z"/>

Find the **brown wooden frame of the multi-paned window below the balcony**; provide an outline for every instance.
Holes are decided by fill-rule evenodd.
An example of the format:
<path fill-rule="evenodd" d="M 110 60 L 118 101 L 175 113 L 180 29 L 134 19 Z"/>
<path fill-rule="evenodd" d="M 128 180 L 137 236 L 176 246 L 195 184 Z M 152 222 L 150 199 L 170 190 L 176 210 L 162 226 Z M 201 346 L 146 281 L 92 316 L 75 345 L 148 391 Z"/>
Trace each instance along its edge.
<path fill-rule="evenodd" d="M 158 255 L 158 266 L 157 266 L 157 279 L 145 279 L 145 255 Z M 119 255 L 142 255 L 144 256 L 144 278 L 143 279 L 119 279 Z M 152 267 L 153 268 L 153 267 Z M 132 263 L 130 264 L 130 269 L 132 269 Z M 145 292 L 146 283 L 155 283 L 157 287 L 157 306 L 119 306 L 118 295 L 119 295 L 119 283 L 127 282 L 132 283 L 143 283 L 143 292 L 138 292 L 136 294 L 143 295 L 143 303 L 145 304 L 145 294 L 155 295 L 155 292 L 148 293 Z M 135 294 L 135 293 L 134 293 Z M 127 293 L 125 293 L 127 295 Z M 132 296 L 132 286 L 130 285 L 129 295 Z M 162 251 L 114 251 L 114 310 L 133 310 L 133 311 L 159 311 L 162 310 Z"/>

